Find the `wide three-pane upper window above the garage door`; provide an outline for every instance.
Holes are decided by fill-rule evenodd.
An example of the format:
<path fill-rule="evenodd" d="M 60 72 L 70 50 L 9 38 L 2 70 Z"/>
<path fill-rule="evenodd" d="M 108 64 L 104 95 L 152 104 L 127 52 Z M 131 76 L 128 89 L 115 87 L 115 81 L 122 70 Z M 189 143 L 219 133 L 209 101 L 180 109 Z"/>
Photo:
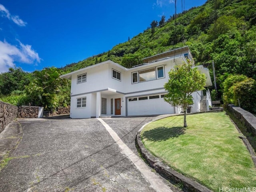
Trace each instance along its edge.
<path fill-rule="evenodd" d="M 132 72 L 132 84 L 164 78 L 164 66 Z"/>

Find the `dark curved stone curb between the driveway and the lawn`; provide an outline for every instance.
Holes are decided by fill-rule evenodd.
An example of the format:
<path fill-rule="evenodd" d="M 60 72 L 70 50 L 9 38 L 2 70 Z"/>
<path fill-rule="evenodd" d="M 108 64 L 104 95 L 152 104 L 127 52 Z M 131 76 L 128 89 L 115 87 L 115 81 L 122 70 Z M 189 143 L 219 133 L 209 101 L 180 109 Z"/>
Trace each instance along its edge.
<path fill-rule="evenodd" d="M 135 144 L 141 156 L 146 160 L 148 165 L 152 167 L 156 172 L 161 176 L 169 180 L 172 184 L 179 184 L 183 186 L 182 190 L 185 192 L 212 192 L 210 189 L 202 186 L 196 181 L 191 180 L 190 178 L 185 177 L 184 175 L 176 172 L 166 164 L 162 163 L 158 158 L 153 156 L 142 143 L 141 130 L 137 133 L 135 138 Z"/>

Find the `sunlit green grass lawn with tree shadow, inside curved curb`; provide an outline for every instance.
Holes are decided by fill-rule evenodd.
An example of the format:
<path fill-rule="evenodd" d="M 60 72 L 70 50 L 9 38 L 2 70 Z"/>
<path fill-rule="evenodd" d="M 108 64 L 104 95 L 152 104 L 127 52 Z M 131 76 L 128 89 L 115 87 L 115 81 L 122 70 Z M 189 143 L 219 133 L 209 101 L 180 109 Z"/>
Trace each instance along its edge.
<path fill-rule="evenodd" d="M 144 146 L 174 170 L 209 189 L 256 187 L 256 168 L 224 112 L 172 116 L 141 132 Z"/>

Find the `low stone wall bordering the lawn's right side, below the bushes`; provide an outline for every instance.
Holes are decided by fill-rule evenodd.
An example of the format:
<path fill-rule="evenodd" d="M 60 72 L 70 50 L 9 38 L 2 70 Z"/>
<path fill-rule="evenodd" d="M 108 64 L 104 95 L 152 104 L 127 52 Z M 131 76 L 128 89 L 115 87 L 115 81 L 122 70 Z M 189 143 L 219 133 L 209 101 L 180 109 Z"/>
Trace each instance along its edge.
<path fill-rule="evenodd" d="M 246 126 L 247 132 L 256 136 L 256 117 L 253 114 L 234 105 L 228 105 L 228 110 Z"/>

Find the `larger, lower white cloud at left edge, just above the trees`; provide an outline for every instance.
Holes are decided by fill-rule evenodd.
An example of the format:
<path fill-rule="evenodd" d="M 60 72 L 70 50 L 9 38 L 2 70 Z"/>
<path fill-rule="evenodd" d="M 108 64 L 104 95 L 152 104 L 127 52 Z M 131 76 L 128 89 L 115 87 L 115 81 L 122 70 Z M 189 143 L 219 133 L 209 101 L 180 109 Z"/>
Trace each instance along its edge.
<path fill-rule="evenodd" d="M 35 52 L 31 45 L 24 45 L 19 40 L 19 46 L 14 46 L 0 41 L 0 73 L 8 71 L 8 68 L 14 67 L 14 62 L 33 64 L 40 62 L 41 58 Z"/>

